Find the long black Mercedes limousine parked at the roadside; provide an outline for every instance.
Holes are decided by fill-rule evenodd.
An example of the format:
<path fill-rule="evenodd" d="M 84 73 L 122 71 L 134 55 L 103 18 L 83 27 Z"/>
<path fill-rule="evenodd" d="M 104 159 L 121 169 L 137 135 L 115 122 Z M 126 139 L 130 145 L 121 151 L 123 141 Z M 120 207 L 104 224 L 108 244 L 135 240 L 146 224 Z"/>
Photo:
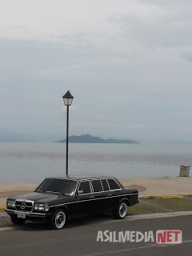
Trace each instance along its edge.
<path fill-rule="evenodd" d="M 8 198 L 5 211 L 15 225 L 46 220 L 59 230 L 67 218 L 85 214 L 125 218 L 127 206 L 137 202 L 138 190 L 125 189 L 117 178 L 46 178 L 34 192 Z"/>

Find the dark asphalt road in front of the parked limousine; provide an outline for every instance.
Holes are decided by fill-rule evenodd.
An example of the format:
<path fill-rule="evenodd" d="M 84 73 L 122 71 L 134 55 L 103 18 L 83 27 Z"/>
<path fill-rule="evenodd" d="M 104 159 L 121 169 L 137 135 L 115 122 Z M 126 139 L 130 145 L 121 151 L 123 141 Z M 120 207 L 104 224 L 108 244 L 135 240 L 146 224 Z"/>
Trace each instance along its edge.
<path fill-rule="evenodd" d="M 182 230 L 182 244 L 158 245 L 154 242 L 97 242 L 98 231 Z M 101 233 L 100 233 L 101 234 Z M 154 237 L 155 238 L 155 237 Z M 101 240 L 101 239 L 100 239 Z M 113 220 L 78 218 L 63 230 L 49 230 L 44 223 L 26 223 L 0 231 L 0 255 L 4 256 L 158 256 L 191 255 L 192 215 L 171 218 Z"/>

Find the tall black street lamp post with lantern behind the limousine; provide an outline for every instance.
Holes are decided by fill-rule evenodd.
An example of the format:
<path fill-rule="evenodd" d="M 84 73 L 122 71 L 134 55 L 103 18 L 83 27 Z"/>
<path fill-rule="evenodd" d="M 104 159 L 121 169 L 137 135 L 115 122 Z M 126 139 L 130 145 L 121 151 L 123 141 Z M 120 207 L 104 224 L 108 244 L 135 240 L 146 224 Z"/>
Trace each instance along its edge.
<path fill-rule="evenodd" d="M 66 177 L 68 177 L 69 107 L 71 106 L 74 97 L 68 90 L 62 98 L 66 106 Z"/>

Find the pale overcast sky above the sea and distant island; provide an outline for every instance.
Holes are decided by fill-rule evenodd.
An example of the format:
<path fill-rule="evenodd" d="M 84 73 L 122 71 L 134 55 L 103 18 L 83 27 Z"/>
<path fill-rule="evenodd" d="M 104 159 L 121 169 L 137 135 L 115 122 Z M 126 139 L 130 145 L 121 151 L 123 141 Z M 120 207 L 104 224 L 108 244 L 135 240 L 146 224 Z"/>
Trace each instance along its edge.
<path fill-rule="evenodd" d="M 0 3 L 0 140 L 192 142 L 190 0 Z"/>

